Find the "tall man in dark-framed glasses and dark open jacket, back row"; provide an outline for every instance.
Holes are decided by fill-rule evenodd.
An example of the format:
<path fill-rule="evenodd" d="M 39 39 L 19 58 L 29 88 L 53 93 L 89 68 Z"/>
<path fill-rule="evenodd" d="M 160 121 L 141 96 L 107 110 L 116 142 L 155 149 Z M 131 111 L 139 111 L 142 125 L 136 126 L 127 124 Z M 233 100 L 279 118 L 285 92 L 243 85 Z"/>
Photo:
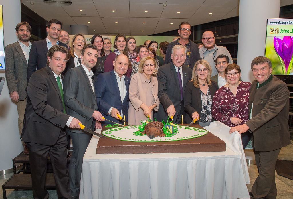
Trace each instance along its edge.
<path fill-rule="evenodd" d="M 179 25 L 178 34 L 180 35 L 180 38 L 176 41 L 171 42 L 166 50 L 165 54 L 165 61 L 164 64 L 168 64 L 172 62 L 171 59 L 171 50 L 175 45 L 183 45 L 186 47 L 186 59 L 183 63 L 183 66 L 190 67 L 193 69 L 193 66 L 197 60 L 200 60 L 200 53 L 198 50 L 197 44 L 193 43 L 189 36 L 191 34 L 191 26 L 188 22 L 183 21 Z"/>

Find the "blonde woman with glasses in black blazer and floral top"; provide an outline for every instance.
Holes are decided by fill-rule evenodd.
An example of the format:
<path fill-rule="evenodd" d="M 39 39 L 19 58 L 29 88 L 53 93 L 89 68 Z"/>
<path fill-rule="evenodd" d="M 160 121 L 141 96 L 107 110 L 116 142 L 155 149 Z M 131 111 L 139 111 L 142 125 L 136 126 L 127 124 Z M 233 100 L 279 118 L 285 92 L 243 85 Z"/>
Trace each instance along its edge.
<path fill-rule="evenodd" d="M 192 79 L 186 84 L 184 92 L 185 122 L 197 119 L 196 124 L 208 126 L 212 118 L 212 99 L 218 84 L 210 80 L 211 67 L 205 60 L 198 60 L 192 70 Z"/>

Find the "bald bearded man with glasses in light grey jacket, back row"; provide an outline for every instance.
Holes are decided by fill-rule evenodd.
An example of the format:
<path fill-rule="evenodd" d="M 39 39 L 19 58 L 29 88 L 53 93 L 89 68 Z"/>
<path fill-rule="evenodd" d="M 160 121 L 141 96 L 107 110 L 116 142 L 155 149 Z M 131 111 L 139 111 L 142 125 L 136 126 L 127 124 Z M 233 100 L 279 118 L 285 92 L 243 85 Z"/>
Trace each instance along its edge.
<path fill-rule="evenodd" d="M 203 47 L 200 48 L 200 59 L 206 60 L 212 68 L 212 76 L 217 74 L 217 70 L 214 67 L 216 63 L 216 57 L 219 55 L 227 55 L 229 57 L 229 64 L 233 63 L 232 57 L 224 46 L 217 46 L 215 44 L 215 36 L 212 31 L 206 31 L 202 34 Z M 220 87 L 219 87 L 220 88 Z"/>

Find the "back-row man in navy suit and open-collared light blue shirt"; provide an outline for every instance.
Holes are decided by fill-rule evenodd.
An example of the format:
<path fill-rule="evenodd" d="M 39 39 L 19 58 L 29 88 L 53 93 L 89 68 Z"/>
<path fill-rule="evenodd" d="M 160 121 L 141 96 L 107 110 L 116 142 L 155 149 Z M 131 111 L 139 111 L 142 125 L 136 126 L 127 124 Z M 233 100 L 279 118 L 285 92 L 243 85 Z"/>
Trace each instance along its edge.
<path fill-rule="evenodd" d="M 61 29 L 62 22 L 57 19 L 51 19 L 47 23 L 48 36 L 46 39 L 33 42 L 32 48 L 30 50 L 30 56 L 28 58 L 28 80 L 30 79 L 30 76 L 33 74 L 33 72 L 46 66 L 47 52 L 52 46 L 59 45 L 67 48 L 67 45 L 58 41 Z"/>

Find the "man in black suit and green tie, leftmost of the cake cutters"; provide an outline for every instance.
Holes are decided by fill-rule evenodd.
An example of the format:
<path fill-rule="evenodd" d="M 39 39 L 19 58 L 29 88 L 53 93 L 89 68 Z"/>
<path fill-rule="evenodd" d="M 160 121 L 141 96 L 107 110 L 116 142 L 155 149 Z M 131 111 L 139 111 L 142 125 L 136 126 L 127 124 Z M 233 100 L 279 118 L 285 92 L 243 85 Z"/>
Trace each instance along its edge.
<path fill-rule="evenodd" d="M 65 114 L 61 76 L 69 59 L 67 48 L 53 46 L 45 68 L 28 82 L 22 140 L 27 143 L 34 198 L 48 198 L 45 188 L 47 156 L 50 156 L 58 198 L 70 198 L 65 125 L 80 128 L 78 119 Z"/>

